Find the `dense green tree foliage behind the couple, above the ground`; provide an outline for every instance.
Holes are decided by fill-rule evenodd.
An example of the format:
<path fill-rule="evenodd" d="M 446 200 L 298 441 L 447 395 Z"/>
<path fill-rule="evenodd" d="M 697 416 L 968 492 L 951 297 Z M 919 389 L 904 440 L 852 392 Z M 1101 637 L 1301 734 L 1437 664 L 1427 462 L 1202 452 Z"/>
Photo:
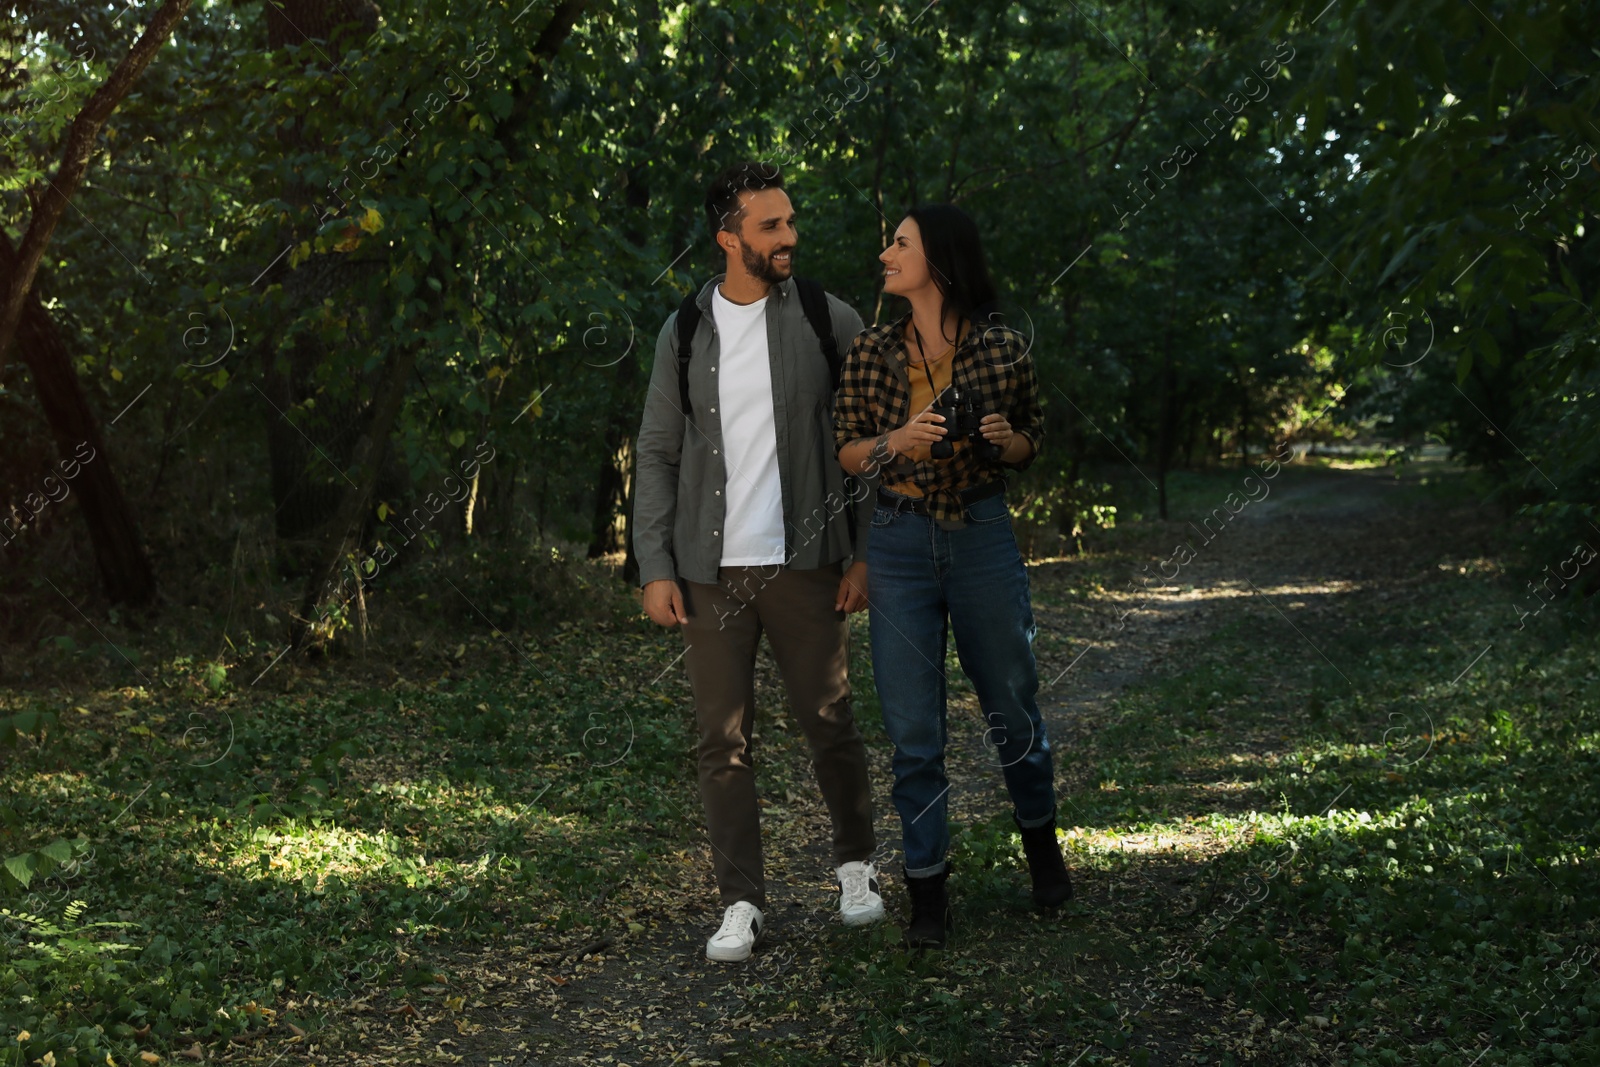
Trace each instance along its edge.
<path fill-rule="evenodd" d="M 1102 525 L 1107 470 L 1160 480 L 1259 450 L 1341 395 L 1318 434 L 1354 418 L 1443 435 L 1570 541 L 1600 477 L 1594 168 L 1562 166 L 1600 136 L 1600 98 L 1557 74 L 1587 59 L 1581 5 L 1501 29 L 1421 0 L 1315 16 L 608 5 L 546 69 L 542 10 L 426 0 L 386 8 L 331 77 L 315 46 L 243 46 L 259 10 L 202 6 L 109 126 L 114 163 L 62 219 L 51 291 L 94 309 L 64 325 L 107 410 L 154 381 L 197 419 L 174 438 L 157 405 L 133 408 L 134 469 L 211 451 L 259 475 L 254 366 L 323 346 L 314 394 L 270 413 L 322 435 L 422 346 L 387 504 L 408 510 L 493 442 L 485 525 L 582 542 L 608 520 L 598 472 L 626 462 L 656 331 L 714 267 L 704 181 L 774 158 L 803 270 L 867 318 L 901 310 L 880 307 L 874 259 L 896 213 L 955 200 L 978 218 L 1045 384 L 1046 448 L 1021 486 L 1045 544 Z M 14 181 L 59 141 L 24 98 L 86 88 L 131 30 L 58 5 L 29 18 Z M 70 253 L 107 242 L 130 251 Z M 296 275 L 328 282 L 307 296 Z M 344 485 L 320 458 L 299 477 Z M 224 522 L 275 510 L 266 482 L 243 480 Z"/>

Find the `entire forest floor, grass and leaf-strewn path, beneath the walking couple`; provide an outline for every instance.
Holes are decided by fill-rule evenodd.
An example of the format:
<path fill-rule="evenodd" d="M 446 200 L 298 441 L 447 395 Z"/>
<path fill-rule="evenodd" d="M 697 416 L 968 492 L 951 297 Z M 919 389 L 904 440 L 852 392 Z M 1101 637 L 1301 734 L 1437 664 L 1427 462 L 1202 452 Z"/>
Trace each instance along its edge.
<path fill-rule="evenodd" d="M 54 979 L 0 960 L 34 982 L 0 992 L 0 1027 L 32 1021 L 21 1062 L 46 1040 L 242 1064 L 1597 1062 L 1600 648 L 1555 608 L 1517 629 L 1522 579 L 1557 560 L 1515 558 L 1443 464 L 1286 469 L 1206 542 L 1184 520 L 1243 475 L 1030 569 L 1059 917 L 1027 904 L 952 651 L 952 945 L 845 929 L 763 654 L 770 936 L 707 963 L 682 645 L 618 613 L 462 635 L 426 675 L 152 665 L 0 693 L 35 717 L 5 750 L 0 853 L 70 849 L 13 901 L 136 923 L 123 950 L 35 934 Z M 859 616 L 856 637 L 898 918 Z"/>

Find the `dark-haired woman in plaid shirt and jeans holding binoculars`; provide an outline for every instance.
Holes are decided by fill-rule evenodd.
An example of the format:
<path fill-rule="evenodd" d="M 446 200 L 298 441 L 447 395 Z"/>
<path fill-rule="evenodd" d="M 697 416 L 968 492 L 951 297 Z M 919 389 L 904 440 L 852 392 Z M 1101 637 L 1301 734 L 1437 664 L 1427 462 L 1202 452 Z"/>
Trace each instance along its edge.
<path fill-rule="evenodd" d="M 1027 569 L 1002 480 L 1038 451 L 1038 379 L 1026 339 L 994 314 L 995 288 L 965 211 L 914 208 L 878 259 L 883 291 L 904 296 L 910 310 L 856 338 L 834 437 L 848 474 L 882 478 L 867 539 L 872 673 L 894 742 L 912 902 L 907 944 L 942 947 L 952 926 L 949 630 L 1011 793 L 1034 901 L 1054 907 L 1072 896 L 1056 845 L 1050 742 L 1034 699 Z"/>

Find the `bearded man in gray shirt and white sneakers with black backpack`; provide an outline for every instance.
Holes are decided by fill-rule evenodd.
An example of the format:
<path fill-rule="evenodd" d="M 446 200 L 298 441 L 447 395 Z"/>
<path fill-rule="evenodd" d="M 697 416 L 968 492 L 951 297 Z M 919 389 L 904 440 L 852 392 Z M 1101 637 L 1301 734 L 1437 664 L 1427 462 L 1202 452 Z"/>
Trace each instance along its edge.
<path fill-rule="evenodd" d="M 706 957 L 739 961 L 760 939 L 766 907 L 750 752 L 763 632 L 834 822 L 840 915 L 848 925 L 883 918 L 869 861 L 877 838 L 867 757 L 846 675 L 846 614 L 867 601 L 870 494 L 846 490 L 834 459 L 837 376 L 826 355 L 829 342 L 850 347 L 861 317 L 834 296 L 824 314 L 819 286 L 802 290 L 814 283 L 792 277 L 795 213 L 782 174 L 763 163 L 728 168 L 706 194 L 706 219 L 726 274 L 670 315 L 656 341 L 634 549 L 646 614 L 682 627 L 688 646 L 701 803 L 725 909 Z"/>

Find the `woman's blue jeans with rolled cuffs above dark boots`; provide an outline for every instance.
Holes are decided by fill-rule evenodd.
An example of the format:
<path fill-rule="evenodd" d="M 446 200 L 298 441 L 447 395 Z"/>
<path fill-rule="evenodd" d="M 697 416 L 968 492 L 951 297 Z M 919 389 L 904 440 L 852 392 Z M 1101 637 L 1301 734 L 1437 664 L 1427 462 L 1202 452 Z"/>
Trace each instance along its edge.
<path fill-rule="evenodd" d="M 1038 717 L 1034 608 L 1005 498 L 966 507 L 966 526 L 882 504 L 867 542 L 872 678 L 894 742 L 894 808 L 909 877 L 944 870 L 946 635 L 978 691 L 986 747 L 1002 768 L 1024 827 L 1056 817 L 1054 768 Z M 949 625 L 947 625 L 949 621 Z"/>

